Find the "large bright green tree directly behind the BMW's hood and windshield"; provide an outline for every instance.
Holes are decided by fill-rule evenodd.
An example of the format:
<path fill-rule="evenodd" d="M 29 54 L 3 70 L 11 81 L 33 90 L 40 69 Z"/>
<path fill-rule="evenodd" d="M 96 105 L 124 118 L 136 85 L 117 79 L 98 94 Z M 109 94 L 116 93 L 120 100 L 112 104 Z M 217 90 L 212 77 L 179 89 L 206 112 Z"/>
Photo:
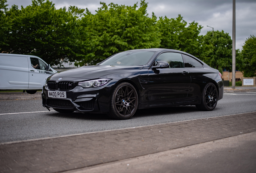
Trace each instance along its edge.
<path fill-rule="evenodd" d="M 87 9 L 82 18 L 83 26 L 88 31 L 85 40 L 89 40 L 89 52 L 80 65 L 95 64 L 105 58 L 130 49 L 159 47 L 157 18 L 147 14 L 145 0 L 134 6 L 124 6 L 101 2 L 95 15 Z M 136 9 L 138 8 L 138 9 Z"/>

